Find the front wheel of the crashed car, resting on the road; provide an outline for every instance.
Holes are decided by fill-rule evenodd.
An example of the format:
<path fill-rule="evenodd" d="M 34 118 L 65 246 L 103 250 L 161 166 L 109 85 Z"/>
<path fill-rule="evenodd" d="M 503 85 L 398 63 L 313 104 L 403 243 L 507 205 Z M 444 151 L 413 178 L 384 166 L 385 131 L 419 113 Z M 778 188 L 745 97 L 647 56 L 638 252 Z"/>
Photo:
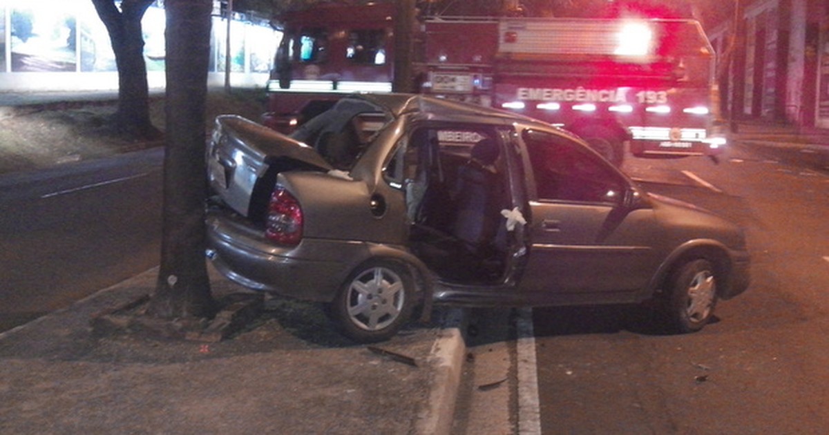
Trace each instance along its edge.
<path fill-rule="evenodd" d="M 714 317 L 717 275 L 705 259 L 695 259 L 676 268 L 667 282 L 663 314 L 668 332 L 700 331 Z"/>

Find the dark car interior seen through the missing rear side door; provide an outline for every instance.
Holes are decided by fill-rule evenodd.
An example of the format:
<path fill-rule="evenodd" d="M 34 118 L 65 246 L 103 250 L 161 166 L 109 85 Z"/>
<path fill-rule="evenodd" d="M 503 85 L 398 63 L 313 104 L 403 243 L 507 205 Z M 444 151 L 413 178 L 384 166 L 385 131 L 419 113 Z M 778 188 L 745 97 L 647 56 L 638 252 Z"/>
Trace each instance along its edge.
<path fill-rule="evenodd" d="M 475 132 L 477 143 L 439 140 L 423 128 L 406 152 L 411 246 L 449 282 L 497 283 L 505 273 L 507 183 L 501 147 Z"/>

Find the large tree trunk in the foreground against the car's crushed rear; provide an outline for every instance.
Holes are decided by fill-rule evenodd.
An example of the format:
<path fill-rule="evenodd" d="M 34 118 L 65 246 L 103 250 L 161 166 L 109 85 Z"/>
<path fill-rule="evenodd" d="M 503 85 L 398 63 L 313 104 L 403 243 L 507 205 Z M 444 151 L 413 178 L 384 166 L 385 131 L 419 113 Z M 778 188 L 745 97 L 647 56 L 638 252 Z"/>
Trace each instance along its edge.
<path fill-rule="evenodd" d="M 205 100 L 211 0 L 167 0 L 167 127 L 161 268 L 148 313 L 216 312 L 205 259 Z"/>

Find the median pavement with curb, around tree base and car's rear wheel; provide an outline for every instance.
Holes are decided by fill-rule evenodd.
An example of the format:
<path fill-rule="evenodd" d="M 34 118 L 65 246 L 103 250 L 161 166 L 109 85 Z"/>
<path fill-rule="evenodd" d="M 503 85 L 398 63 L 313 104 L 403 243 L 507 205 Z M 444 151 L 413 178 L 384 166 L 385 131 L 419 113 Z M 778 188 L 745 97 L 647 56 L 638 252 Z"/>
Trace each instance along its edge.
<path fill-rule="evenodd" d="M 0 433 L 449 433 L 459 310 L 374 347 L 339 336 L 317 305 L 282 298 L 224 341 L 95 333 L 94 317 L 149 294 L 157 276 L 0 334 Z M 216 297 L 244 292 L 211 278 Z"/>

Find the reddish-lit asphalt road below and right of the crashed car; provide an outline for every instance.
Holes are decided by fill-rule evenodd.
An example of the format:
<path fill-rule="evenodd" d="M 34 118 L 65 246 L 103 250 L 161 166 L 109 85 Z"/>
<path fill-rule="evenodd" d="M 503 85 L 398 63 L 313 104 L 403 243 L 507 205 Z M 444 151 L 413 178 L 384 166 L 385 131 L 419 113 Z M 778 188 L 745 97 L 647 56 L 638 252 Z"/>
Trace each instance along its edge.
<path fill-rule="evenodd" d="M 526 322 L 534 346 L 522 350 L 513 315 L 502 326 L 512 331 L 502 358 L 513 361 L 505 373 L 516 380 L 505 385 L 517 399 L 496 418 L 515 433 L 829 432 L 829 173 L 789 157 L 737 147 L 720 165 L 628 162 L 649 190 L 744 226 L 751 287 L 721 302 L 705 330 L 685 336 L 660 334 L 633 307 L 545 308 Z M 490 318 L 479 313 L 473 325 Z M 473 376 L 482 371 L 476 352 L 503 341 L 498 331 L 476 337 L 483 344 L 472 347 Z M 498 389 L 483 385 L 468 383 L 466 395 L 487 403 Z M 465 409 L 462 417 L 492 415 Z"/>

